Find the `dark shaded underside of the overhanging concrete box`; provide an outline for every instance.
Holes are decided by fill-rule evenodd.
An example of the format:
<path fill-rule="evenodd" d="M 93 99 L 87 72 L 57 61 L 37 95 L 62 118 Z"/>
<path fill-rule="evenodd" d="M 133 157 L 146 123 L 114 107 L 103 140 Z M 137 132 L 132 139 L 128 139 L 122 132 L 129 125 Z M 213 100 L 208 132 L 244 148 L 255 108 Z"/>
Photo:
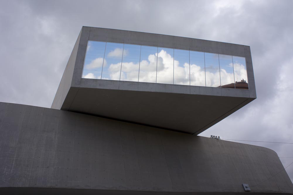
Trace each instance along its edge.
<path fill-rule="evenodd" d="M 128 83 L 131 85 L 133 82 Z M 113 88 L 109 90 L 81 87 L 69 108 L 62 107 L 62 110 L 88 113 L 197 135 L 238 110 L 239 107 L 241 108 L 252 101 L 243 97 L 140 90 L 121 91 Z M 146 88 L 142 87 L 142 89 Z M 168 87 L 163 89 L 166 90 Z M 200 87 L 199 90 L 201 89 L 207 88 Z M 220 88 L 209 87 L 209 89 Z"/>

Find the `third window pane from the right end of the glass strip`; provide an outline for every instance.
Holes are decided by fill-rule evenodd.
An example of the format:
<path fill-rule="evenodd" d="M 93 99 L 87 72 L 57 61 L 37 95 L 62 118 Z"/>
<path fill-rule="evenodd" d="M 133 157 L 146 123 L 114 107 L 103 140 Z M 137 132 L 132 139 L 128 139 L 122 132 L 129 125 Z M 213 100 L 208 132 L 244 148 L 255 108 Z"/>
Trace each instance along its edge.
<path fill-rule="evenodd" d="M 205 53 L 205 77 L 207 87 L 221 87 L 219 54 Z"/>

